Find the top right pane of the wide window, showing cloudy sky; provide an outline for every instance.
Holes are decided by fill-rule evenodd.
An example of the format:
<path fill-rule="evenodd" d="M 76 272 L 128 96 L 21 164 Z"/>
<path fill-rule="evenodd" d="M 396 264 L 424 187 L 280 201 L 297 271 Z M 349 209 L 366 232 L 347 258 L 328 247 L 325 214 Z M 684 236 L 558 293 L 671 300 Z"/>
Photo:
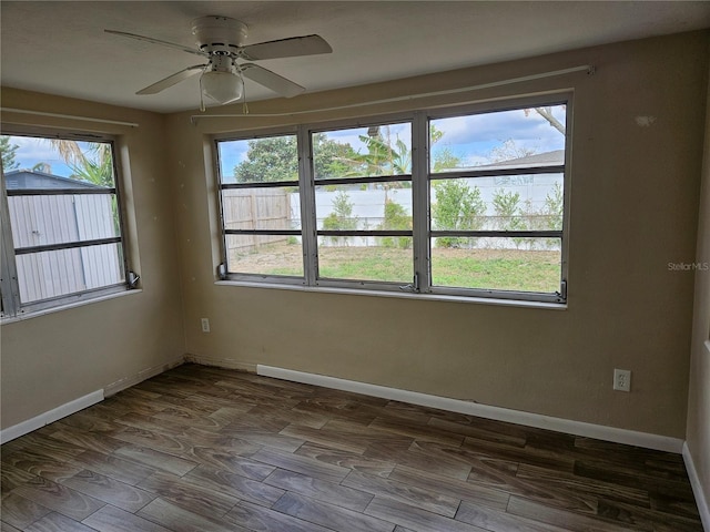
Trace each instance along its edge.
<path fill-rule="evenodd" d="M 430 121 L 430 172 L 510 170 L 565 162 L 566 105 Z"/>

